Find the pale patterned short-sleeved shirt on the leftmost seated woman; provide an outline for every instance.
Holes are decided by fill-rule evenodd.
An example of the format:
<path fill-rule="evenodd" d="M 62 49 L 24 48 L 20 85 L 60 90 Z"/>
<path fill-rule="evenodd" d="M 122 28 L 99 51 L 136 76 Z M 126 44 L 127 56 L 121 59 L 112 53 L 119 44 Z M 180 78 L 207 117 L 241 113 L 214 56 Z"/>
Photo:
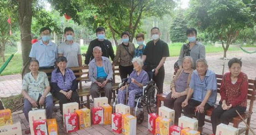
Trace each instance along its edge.
<path fill-rule="evenodd" d="M 49 86 L 49 81 L 45 72 L 38 71 L 37 80 L 34 79 L 32 73 L 27 73 L 22 82 L 22 90 L 28 92 L 28 95 L 35 101 L 38 100 L 39 94 L 43 94 L 46 86 Z M 51 95 L 48 93 L 47 96 Z"/>

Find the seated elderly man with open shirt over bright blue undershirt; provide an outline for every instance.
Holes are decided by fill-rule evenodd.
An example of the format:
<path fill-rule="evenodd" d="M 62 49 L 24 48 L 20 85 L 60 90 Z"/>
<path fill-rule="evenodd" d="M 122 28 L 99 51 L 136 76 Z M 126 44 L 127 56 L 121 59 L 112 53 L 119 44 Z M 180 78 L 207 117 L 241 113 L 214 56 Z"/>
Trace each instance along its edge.
<path fill-rule="evenodd" d="M 91 84 L 91 95 L 93 98 L 99 97 L 100 91 L 104 90 L 108 98 L 108 104 L 112 98 L 112 64 L 110 60 L 102 56 L 99 46 L 93 48 L 94 59 L 89 63 L 89 79 Z"/>

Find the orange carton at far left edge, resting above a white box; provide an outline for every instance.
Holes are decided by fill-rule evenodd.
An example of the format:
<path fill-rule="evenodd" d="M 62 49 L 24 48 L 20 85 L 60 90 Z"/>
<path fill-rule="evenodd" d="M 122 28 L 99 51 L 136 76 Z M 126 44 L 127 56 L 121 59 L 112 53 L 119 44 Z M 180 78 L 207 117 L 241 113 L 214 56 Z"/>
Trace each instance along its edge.
<path fill-rule="evenodd" d="M 5 109 L 0 110 L 0 126 L 4 125 L 12 125 L 12 117 L 11 117 L 11 110 Z"/>

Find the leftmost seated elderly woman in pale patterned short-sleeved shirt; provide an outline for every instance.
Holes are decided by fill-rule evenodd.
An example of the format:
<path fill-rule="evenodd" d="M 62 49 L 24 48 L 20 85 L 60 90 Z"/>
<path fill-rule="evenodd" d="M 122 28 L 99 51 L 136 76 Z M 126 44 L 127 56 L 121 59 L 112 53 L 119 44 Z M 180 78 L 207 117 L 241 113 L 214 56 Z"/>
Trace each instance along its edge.
<path fill-rule="evenodd" d="M 24 99 L 24 115 L 28 120 L 28 112 L 32 107 L 46 106 L 46 117 L 51 118 L 53 112 L 53 96 L 50 92 L 50 85 L 45 72 L 38 71 L 39 62 L 37 60 L 30 60 L 29 69 L 31 72 L 27 73 L 22 82 L 22 95 Z M 28 129 L 26 134 L 30 133 Z"/>

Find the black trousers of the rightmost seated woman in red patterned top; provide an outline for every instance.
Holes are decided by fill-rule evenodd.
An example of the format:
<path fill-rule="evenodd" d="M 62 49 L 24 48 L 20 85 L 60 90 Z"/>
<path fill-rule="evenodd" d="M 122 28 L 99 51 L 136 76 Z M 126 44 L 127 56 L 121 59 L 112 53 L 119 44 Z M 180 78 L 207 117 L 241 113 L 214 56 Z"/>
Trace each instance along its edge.
<path fill-rule="evenodd" d="M 246 111 L 246 107 L 242 106 L 235 106 L 231 107 L 229 110 L 223 110 L 221 107 L 222 104 L 220 104 L 217 108 L 215 108 L 214 111 L 212 111 L 211 114 L 211 124 L 212 124 L 212 132 L 216 134 L 216 127 L 220 123 L 228 125 L 229 122 L 232 121 L 234 117 L 236 117 L 238 114 L 236 113 L 236 110 L 243 114 Z"/>

